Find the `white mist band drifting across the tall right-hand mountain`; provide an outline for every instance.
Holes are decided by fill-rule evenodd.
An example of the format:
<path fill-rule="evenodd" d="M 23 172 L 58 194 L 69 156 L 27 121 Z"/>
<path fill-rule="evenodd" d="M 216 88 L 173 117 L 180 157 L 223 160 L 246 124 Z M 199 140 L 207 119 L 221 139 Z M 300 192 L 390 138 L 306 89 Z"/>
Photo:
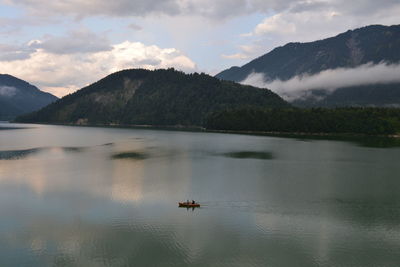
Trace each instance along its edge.
<path fill-rule="evenodd" d="M 262 73 L 252 73 L 241 83 L 271 89 L 284 99 L 293 101 L 309 96 L 315 89 L 329 93 L 342 87 L 396 82 L 400 82 L 400 65 L 368 63 L 357 68 L 329 69 L 315 75 L 295 76 L 286 81 L 266 81 Z"/>

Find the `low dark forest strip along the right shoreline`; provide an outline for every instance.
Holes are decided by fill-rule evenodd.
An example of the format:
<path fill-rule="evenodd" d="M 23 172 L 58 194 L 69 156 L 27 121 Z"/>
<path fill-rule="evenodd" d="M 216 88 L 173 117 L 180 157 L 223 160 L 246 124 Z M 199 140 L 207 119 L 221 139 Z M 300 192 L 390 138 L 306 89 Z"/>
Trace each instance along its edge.
<path fill-rule="evenodd" d="M 209 130 L 282 133 L 393 135 L 400 132 L 395 108 L 239 108 L 207 118 Z"/>

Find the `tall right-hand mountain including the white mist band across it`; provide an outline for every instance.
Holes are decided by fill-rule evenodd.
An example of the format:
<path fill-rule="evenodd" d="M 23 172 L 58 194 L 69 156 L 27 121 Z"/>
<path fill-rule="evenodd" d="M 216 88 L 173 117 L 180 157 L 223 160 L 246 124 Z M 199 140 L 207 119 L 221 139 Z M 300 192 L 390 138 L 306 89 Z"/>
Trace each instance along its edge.
<path fill-rule="evenodd" d="M 216 77 L 269 88 L 300 106 L 393 106 L 400 104 L 399 51 L 400 25 L 372 25 L 289 43 Z"/>

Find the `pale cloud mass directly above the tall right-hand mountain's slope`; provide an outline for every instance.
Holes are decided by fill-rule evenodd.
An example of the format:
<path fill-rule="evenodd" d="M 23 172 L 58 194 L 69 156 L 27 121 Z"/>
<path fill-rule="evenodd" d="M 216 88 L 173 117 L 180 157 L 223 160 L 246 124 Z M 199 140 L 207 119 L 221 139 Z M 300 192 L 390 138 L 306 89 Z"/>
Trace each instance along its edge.
<path fill-rule="evenodd" d="M 400 14 L 397 0 L 282 1 L 281 5 L 271 7 L 272 13 L 266 13 L 250 32 L 240 35 L 242 45 L 234 54 L 242 55 L 240 58 L 245 58 L 244 55 L 255 58 L 289 42 L 315 41 L 371 24 L 398 24 Z M 243 43 L 262 47 L 262 50 L 245 52 Z"/>

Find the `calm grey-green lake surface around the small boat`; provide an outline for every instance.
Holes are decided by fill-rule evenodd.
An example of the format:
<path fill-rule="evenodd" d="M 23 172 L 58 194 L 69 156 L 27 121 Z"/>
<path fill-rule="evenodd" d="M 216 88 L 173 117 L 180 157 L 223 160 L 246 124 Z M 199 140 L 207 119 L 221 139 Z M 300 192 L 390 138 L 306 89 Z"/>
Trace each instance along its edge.
<path fill-rule="evenodd" d="M 400 264 L 392 141 L 0 127 L 0 266 Z"/>

